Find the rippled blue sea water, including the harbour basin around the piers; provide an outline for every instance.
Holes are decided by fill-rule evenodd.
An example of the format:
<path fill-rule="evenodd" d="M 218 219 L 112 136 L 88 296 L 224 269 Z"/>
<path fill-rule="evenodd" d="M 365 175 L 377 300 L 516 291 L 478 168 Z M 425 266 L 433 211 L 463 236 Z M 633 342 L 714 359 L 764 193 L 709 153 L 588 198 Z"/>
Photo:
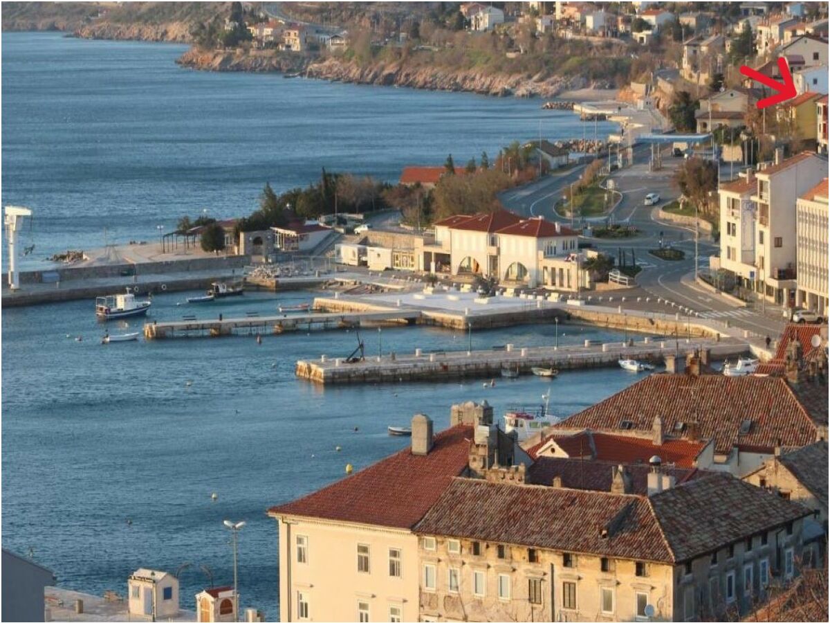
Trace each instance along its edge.
<path fill-rule="evenodd" d="M 515 136 L 579 130 L 539 101 L 211 74 L 173 64 L 183 47 L 2 36 L 2 202 L 31 206 L 37 253 L 152 237 L 157 223 L 209 208 L 244 213 L 266 179 L 284 189 L 327 169 L 395 179 L 403 164 L 463 161 Z M 156 297 L 178 319 L 188 296 Z M 200 316 L 273 312 L 309 294 L 247 294 Z M 188 309 L 188 312 L 192 310 Z M 133 323 L 138 327 L 140 323 Z M 129 328 L 133 328 L 129 327 Z M 126 330 L 128 327 L 119 327 Z M 276 618 L 276 525 L 266 508 L 402 448 L 386 434 L 421 411 L 443 429 L 452 403 L 538 403 L 568 415 L 637 377 L 622 370 L 522 378 L 483 388 L 399 384 L 323 388 L 297 359 L 345 356 L 354 333 L 144 341 L 101 346 L 92 302 L 2 312 L 2 544 L 61 586 L 124 594 L 137 567 L 181 572 L 183 606 L 232 580 L 222 520 L 240 536 L 243 606 Z M 83 336 L 76 341 L 76 336 Z M 560 343 L 609 339 L 560 326 Z M 377 352 L 377 331 L 364 333 Z M 466 335 L 383 329 L 383 351 L 466 348 Z M 473 347 L 552 343 L 554 326 L 482 331 Z M 188 386 L 188 380 L 193 384 Z M 359 431 L 354 432 L 354 427 Z M 335 446 L 342 446 L 336 452 Z M 213 502 L 211 493 L 217 493 Z"/>

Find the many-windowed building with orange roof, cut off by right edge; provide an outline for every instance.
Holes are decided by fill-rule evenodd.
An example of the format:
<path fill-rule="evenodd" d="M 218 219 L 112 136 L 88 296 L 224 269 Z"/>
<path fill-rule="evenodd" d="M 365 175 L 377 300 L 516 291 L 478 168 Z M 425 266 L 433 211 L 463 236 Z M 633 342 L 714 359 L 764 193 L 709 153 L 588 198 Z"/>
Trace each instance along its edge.
<path fill-rule="evenodd" d="M 825 173 L 827 170 L 825 169 Z M 828 178 L 795 203 L 796 305 L 828 315 Z"/>

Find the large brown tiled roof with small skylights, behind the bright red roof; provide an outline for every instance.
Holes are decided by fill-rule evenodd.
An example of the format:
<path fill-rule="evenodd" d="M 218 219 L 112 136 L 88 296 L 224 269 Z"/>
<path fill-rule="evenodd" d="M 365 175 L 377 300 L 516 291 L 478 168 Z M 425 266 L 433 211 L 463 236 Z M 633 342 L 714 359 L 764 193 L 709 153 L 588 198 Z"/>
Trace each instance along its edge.
<path fill-rule="evenodd" d="M 772 452 L 776 444 L 798 448 L 817 439 L 817 424 L 827 420 L 827 408 L 822 412 L 805 401 L 784 379 L 773 376 L 656 374 L 572 415 L 554 430 L 615 433 L 627 420 L 630 430 L 650 432 L 660 415 L 669 437 L 684 438 L 684 424 L 697 422 L 700 438 L 715 439 L 719 454 L 735 445 Z M 745 422 L 751 423 L 749 430 L 741 433 Z"/>

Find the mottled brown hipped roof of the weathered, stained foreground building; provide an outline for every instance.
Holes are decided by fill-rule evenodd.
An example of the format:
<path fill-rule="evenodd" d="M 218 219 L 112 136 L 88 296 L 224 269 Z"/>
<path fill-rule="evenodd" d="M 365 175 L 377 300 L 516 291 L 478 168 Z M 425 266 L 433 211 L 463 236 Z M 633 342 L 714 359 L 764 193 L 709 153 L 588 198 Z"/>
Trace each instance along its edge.
<path fill-rule="evenodd" d="M 651 498 L 455 478 L 414 532 L 674 564 L 810 513 L 725 473 Z"/>

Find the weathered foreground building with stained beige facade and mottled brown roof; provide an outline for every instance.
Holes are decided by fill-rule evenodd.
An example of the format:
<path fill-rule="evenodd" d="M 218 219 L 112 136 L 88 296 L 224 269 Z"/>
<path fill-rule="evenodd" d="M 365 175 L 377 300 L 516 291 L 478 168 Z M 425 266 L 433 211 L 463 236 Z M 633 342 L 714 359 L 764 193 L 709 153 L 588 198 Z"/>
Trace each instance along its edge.
<path fill-rule="evenodd" d="M 421 621 L 718 620 L 795 574 L 808 509 L 725 474 L 676 485 L 661 470 L 651 495 L 498 468 L 454 478 L 414 529 Z"/>

